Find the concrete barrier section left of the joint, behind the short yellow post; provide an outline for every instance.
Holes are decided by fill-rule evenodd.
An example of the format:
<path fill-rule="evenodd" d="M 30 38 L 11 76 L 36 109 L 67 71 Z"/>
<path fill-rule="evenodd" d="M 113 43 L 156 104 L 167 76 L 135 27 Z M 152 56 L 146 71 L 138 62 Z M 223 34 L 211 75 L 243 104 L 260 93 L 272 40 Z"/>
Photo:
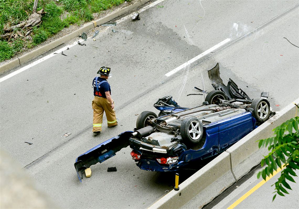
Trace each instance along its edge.
<path fill-rule="evenodd" d="M 199 205 L 205 205 L 234 182 L 229 153 L 223 152 L 208 165 L 182 182 L 178 191 L 171 190 L 149 208 L 181 208 L 196 195 L 202 196 Z"/>

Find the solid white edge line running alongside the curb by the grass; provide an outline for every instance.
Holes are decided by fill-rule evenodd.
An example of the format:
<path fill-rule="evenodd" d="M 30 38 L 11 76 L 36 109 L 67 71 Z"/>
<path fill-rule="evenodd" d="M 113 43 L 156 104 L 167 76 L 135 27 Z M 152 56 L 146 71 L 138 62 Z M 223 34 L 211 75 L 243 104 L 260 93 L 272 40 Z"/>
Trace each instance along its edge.
<path fill-rule="evenodd" d="M 158 0 L 158 1 L 155 1 L 155 2 L 153 2 L 153 3 L 151 3 L 151 4 L 149 4 L 149 5 L 147 5 L 147 6 L 143 7 L 143 8 L 141 8 L 140 10 L 137 11 L 137 13 L 141 13 L 141 12 L 143 12 L 144 10 L 147 10 L 147 9 L 149 9 L 150 7 L 155 6 L 156 4 L 161 3 L 162 1 L 165 1 L 165 0 Z M 127 16 L 121 18 L 120 20 L 117 21 L 117 23 L 121 23 L 121 22 L 125 21 L 126 19 L 129 19 L 130 17 L 132 18 L 132 16 L 134 16 L 134 14 L 135 14 L 135 13 L 130 14 L 130 15 L 127 15 Z M 91 38 L 91 37 L 88 37 L 88 39 L 89 39 L 89 38 Z M 83 39 L 80 39 L 79 41 L 82 42 Z M 75 41 L 74 43 L 72 43 L 72 44 L 70 44 L 70 45 L 67 45 L 67 46 L 63 47 L 63 48 L 61 48 L 61 49 L 55 51 L 54 53 L 59 54 L 59 53 L 61 53 L 62 51 L 66 50 L 67 48 L 71 48 L 71 47 L 73 47 L 73 46 L 75 46 L 75 45 L 77 45 L 77 44 L 78 44 L 78 41 Z M 33 63 L 31 63 L 31 64 L 28 64 L 28 65 L 26 65 L 26 66 L 20 68 L 19 70 L 16 70 L 16 71 L 14 71 L 13 73 L 10 73 L 10 74 L 8 74 L 7 76 L 4 76 L 4 77 L 0 78 L 0 83 L 1 83 L 2 81 L 5 81 L 6 79 L 9 79 L 9 78 L 11 78 L 11 77 L 13 77 L 13 76 L 15 76 L 15 75 L 17 75 L 17 74 L 23 72 L 24 70 L 27 70 L 27 69 L 30 68 L 30 67 L 33 67 L 33 66 L 36 65 L 36 64 L 39 64 L 39 63 L 42 62 L 42 61 L 45 61 L 45 60 L 49 59 L 50 57 L 55 56 L 56 54 L 54 54 L 54 53 L 51 53 L 51 54 L 49 54 L 49 55 L 47 55 L 47 56 L 44 56 L 43 58 L 41 58 L 41 59 L 39 59 L 39 60 L 36 60 L 35 62 L 33 62 Z"/>

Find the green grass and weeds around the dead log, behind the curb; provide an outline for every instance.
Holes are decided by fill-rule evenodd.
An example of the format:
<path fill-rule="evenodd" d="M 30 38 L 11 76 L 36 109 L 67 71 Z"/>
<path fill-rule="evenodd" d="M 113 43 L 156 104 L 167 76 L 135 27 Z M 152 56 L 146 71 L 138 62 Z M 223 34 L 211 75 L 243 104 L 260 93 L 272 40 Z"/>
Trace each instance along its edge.
<path fill-rule="evenodd" d="M 44 42 L 71 24 L 83 24 L 93 19 L 92 13 L 99 13 L 125 0 L 39 0 L 37 11 L 44 9 L 38 26 L 14 28 L 10 36 L 4 29 L 28 20 L 34 0 L 0 0 L 0 62 L 12 58 L 23 47 L 32 47 Z M 127 0 L 130 1 L 130 0 Z M 31 32 L 26 35 L 26 33 Z M 7 32 L 8 33 L 8 32 Z M 7 34 L 6 33 L 6 34 Z M 2 35 L 2 37 L 1 37 Z M 9 38 L 10 37 L 10 38 Z"/>

